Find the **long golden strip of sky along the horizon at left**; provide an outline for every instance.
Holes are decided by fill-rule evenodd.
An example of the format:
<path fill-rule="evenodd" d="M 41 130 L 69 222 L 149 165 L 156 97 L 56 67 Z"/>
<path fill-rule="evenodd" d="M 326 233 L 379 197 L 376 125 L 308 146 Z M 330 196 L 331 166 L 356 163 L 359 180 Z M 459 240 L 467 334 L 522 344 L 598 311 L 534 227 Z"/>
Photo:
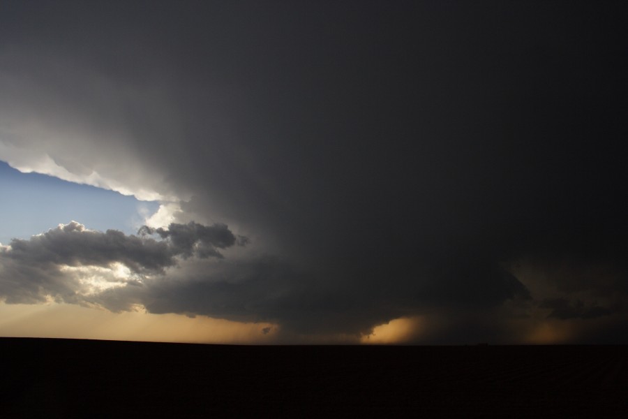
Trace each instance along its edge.
<path fill-rule="evenodd" d="M 204 344 L 268 344 L 278 328 L 205 316 L 112 313 L 73 304 L 0 304 L 0 336 L 162 341 Z"/>

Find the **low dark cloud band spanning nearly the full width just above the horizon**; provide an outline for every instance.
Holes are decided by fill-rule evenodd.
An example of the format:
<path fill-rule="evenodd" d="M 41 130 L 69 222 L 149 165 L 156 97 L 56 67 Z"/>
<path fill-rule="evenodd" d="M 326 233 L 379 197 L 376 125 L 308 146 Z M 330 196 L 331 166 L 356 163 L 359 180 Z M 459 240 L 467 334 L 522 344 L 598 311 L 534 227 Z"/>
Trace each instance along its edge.
<path fill-rule="evenodd" d="M 521 339 L 513 321 L 530 317 L 535 304 L 561 321 L 614 314 L 560 298 L 534 303 L 514 275 L 477 260 L 424 262 L 412 281 L 396 280 L 403 290 L 376 295 L 373 284 L 385 274 L 377 264 L 355 281 L 338 281 L 272 256 L 231 260 L 218 252 L 246 242 L 224 224 L 143 226 L 138 235 L 124 235 L 73 221 L 0 250 L 0 296 L 7 303 L 52 299 L 114 312 L 142 307 L 154 314 L 268 322 L 279 326 L 278 341 L 360 339 L 393 319 L 426 316 L 415 343 L 507 342 Z M 117 266 L 127 274 L 112 274 Z M 388 275 L 396 274 L 389 267 Z"/>

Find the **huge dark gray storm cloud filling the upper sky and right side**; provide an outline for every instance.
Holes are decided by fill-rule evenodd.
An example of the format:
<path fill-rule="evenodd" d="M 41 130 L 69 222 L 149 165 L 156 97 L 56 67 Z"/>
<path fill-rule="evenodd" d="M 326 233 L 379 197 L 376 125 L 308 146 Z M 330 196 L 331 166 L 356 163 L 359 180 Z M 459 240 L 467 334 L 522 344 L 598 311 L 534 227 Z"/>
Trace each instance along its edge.
<path fill-rule="evenodd" d="M 11 156 L 185 200 L 181 256 L 244 240 L 188 224 L 219 221 L 290 266 L 163 278 L 147 307 L 354 332 L 626 300 L 620 3 L 68 4 L 0 13 Z M 504 272 L 524 259 L 564 295 Z"/>

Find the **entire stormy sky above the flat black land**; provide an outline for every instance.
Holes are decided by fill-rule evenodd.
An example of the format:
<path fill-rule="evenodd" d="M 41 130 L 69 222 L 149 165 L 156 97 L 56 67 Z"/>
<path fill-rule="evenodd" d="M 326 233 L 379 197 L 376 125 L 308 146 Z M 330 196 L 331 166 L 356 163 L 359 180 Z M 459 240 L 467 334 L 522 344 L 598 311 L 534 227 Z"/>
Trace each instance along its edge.
<path fill-rule="evenodd" d="M 624 12 L 4 1 L 0 335 L 628 343 Z"/>

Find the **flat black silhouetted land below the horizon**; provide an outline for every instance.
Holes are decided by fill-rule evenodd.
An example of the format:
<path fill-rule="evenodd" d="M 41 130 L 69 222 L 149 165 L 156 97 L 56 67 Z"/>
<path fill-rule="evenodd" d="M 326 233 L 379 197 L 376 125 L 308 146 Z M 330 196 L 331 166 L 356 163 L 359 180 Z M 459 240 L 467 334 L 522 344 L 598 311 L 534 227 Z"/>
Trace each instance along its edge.
<path fill-rule="evenodd" d="M 1 338 L 3 417 L 628 417 L 628 346 Z"/>

